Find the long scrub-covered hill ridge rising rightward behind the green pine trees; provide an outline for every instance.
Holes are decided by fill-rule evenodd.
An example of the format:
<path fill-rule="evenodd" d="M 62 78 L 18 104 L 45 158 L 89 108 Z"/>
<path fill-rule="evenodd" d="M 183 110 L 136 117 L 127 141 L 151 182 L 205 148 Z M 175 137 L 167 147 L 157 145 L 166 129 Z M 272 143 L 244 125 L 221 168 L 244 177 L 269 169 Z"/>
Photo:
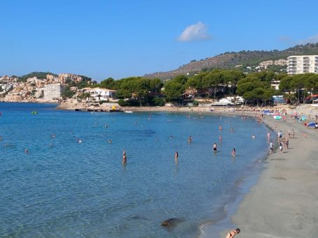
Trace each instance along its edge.
<path fill-rule="evenodd" d="M 190 75 L 197 73 L 204 69 L 210 68 L 235 68 L 235 66 L 243 65 L 256 66 L 261 61 L 275 60 L 275 59 L 287 59 L 291 55 L 302 55 L 302 54 L 318 54 L 318 43 L 307 44 L 307 45 L 296 45 L 286 50 L 243 50 L 240 52 L 225 52 L 215 57 L 201 59 L 200 61 L 191 61 L 189 64 L 180 66 L 178 69 L 171 70 L 168 72 L 157 72 L 146 74 L 144 77 L 148 78 L 160 78 L 161 80 L 167 80 L 177 75 Z"/>

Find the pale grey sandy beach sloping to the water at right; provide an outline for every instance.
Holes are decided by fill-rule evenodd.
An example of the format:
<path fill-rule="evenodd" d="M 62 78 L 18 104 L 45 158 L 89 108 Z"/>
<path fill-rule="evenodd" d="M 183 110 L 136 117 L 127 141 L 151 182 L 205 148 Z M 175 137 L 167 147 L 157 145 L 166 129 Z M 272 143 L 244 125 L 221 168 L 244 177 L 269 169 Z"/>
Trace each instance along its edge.
<path fill-rule="evenodd" d="M 303 106 L 299 112 L 312 113 L 309 110 Z M 233 226 L 241 230 L 237 237 L 317 237 L 318 130 L 290 117 L 277 121 L 268 116 L 264 122 L 276 132 L 281 130 L 283 137 L 294 129 L 295 138 L 291 136 L 289 149 L 268 156 L 259 181 L 240 203 L 232 218 Z M 272 137 L 277 143 L 277 135 Z M 210 232 L 206 237 L 216 237 Z"/>

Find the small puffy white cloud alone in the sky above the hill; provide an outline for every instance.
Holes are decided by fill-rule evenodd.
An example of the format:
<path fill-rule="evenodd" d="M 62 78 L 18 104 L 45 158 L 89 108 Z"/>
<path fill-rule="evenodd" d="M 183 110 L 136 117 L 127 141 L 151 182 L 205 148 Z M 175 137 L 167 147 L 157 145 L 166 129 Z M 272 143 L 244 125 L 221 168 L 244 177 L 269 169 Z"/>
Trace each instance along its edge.
<path fill-rule="evenodd" d="M 208 33 L 208 27 L 202 22 L 198 22 L 186 27 L 178 37 L 178 41 L 209 40 L 210 38 L 212 36 Z"/>

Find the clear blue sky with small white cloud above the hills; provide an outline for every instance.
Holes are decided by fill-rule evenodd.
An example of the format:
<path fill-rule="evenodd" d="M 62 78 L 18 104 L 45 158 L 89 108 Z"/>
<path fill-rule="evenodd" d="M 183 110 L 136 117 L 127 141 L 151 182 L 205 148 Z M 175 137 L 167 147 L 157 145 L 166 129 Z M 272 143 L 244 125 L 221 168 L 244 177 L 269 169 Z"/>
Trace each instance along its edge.
<path fill-rule="evenodd" d="M 317 0 L 0 0 L 0 10 L 0 75 L 100 82 L 318 42 Z"/>

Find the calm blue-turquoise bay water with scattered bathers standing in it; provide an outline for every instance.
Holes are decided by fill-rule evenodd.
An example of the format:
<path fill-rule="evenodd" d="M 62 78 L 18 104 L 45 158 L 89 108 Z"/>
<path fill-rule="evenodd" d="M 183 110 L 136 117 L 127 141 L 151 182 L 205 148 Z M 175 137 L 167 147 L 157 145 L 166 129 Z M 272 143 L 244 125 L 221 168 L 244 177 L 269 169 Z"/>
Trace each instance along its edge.
<path fill-rule="evenodd" d="M 266 127 L 248 118 L 29 103 L 0 103 L 0 112 L 3 237 L 195 237 L 224 218 L 238 182 L 268 151 Z M 161 227 L 168 218 L 181 222 Z"/>

